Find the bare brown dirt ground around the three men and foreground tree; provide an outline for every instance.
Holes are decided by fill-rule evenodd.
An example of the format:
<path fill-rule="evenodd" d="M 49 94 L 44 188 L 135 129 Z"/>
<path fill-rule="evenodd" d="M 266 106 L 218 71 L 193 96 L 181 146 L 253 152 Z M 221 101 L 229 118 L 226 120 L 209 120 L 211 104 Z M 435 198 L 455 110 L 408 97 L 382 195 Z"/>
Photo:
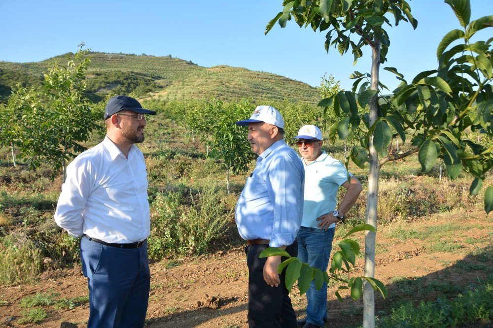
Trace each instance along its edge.
<path fill-rule="evenodd" d="M 423 230 L 451 222 L 460 222 L 473 228 L 449 231 L 446 238 L 460 245 L 460 248 L 450 253 L 427 251 L 427 241 L 423 239 L 390 238 L 386 236 L 386 231 L 391 230 L 392 226 L 384 227 L 379 231 L 375 271 L 376 277 L 386 284 L 389 297 L 384 300 L 380 294 L 375 294 L 377 315 L 379 311 L 388 311 L 392 299 L 402 296 L 399 288 L 393 284 L 395 277 L 407 277 L 411 280 L 423 277 L 421 280 L 423 283 L 447 281 L 461 286 L 486 277 L 483 270 L 463 271 L 455 266 L 458 261 L 474 263 L 475 259 L 471 253 L 475 248 L 485 247 L 491 243 L 493 231 L 491 215 L 487 217 L 484 213 L 470 213 L 464 217 L 448 214 L 426 221 L 416 220 L 404 227 Z M 362 244 L 362 233 L 359 233 L 357 239 Z M 334 248 L 337 249 L 337 239 L 334 240 Z M 152 279 L 147 327 L 247 327 L 248 277 L 243 248 L 209 256 L 180 259 L 177 263 L 177 266 L 169 268 L 166 268 L 170 266 L 169 262 L 168 265 L 166 262 L 151 264 Z M 362 275 L 362 267 L 363 260 L 358 258 L 356 269 L 350 276 Z M 326 327 L 347 327 L 358 323 L 362 318 L 362 301 L 354 302 L 348 294 L 342 294 L 344 302 L 339 302 L 334 295 L 336 289 L 337 286 L 333 284 L 329 287 L 329 324 L 326 324 Z M 291 298 L 296 313 L 302 317 L 306 300 L 296 292 L 295 287 Z M 0 305 L 0 327 L 60 327 L 61 322 L 70 322 L 74 324 L 72 327 L 86 325 L 89 314 L 87 303 L 72 310 L 55 310 L 52 306 L 46 306 L 44 309 L 49 316 L 41 323 L 19 325 L 17 321 L 25 310 L 19 306 L 20 300 L 36 293 L 58 293 L 63 297 L 76 297 L 87 295 L 88 291 L 80 267 L 47 272 L 36 284 L 4 286 L 0 290 L 0 299 L 7 300 L 7 304 Z M 428 297 L 433 298 L 433 295 Z"/>

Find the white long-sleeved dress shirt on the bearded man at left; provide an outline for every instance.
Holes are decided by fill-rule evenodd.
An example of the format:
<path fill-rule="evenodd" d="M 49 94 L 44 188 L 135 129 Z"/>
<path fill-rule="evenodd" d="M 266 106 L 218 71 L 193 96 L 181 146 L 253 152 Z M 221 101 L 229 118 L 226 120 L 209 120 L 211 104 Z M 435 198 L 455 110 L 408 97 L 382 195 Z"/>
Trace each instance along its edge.
<path fill-rule="evenodd" d="M 108 243 L 133 243 L 149 235 L 147 171 L 141 150 L 128 159 L 106 136 L 67 166 L 55 212 L 56 223 L 71 236 Z"/>

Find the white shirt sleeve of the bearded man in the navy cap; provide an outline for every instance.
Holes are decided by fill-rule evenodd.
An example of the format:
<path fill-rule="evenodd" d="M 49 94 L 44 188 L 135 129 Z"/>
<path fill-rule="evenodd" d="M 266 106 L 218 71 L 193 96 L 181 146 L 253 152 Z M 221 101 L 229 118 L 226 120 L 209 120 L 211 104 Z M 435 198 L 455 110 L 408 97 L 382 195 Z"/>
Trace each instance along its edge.
<path fill-rule="evenodd" d="M 55 222 L 73 237 L 83 234 L 83 211 L 94 185 L 92 168 L 88 159 L 70 163 L 58 198 Z"/>

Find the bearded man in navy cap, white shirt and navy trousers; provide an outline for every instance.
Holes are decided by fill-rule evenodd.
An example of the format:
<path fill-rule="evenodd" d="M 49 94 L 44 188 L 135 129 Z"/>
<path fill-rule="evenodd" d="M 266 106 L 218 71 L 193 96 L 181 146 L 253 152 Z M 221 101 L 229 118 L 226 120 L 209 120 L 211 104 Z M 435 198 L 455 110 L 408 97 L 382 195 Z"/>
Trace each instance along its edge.
<path fill-rule="evenodd" d="M 135 143 L 144 141 L 145 115 L 126 96 L 106 105 L 106 137 L 67 166 L 56 223 L 81 237 L 82 272 L 89 286 L 87 327 L 143 327 L 149 298 L 150 215 L 147 172 Z"/>

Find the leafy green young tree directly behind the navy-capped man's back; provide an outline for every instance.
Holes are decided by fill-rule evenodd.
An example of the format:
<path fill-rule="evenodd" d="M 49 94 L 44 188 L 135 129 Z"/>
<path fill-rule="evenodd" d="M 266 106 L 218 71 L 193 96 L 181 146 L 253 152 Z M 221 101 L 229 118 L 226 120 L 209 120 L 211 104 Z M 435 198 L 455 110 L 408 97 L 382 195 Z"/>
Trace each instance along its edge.
<path fill-rule="evenodd" d="M 48 98 L 47 120 L 51 123 L 51 137 L 47 140 L 51 152 L 43 154 L 54 169 L 63 168 L 63 181 L 66 178 L 66 166 L 70 157 L 85 148 L 80 144 L 87 140 L 93 130 L 95 117 L 91 111 L 89 99 L 85 93 L 85 72 L 90 59 L 89 49 L 82 50 L 84 44 L 67 66 L 55 61 L 44 74 L 44 88 Z"/>

